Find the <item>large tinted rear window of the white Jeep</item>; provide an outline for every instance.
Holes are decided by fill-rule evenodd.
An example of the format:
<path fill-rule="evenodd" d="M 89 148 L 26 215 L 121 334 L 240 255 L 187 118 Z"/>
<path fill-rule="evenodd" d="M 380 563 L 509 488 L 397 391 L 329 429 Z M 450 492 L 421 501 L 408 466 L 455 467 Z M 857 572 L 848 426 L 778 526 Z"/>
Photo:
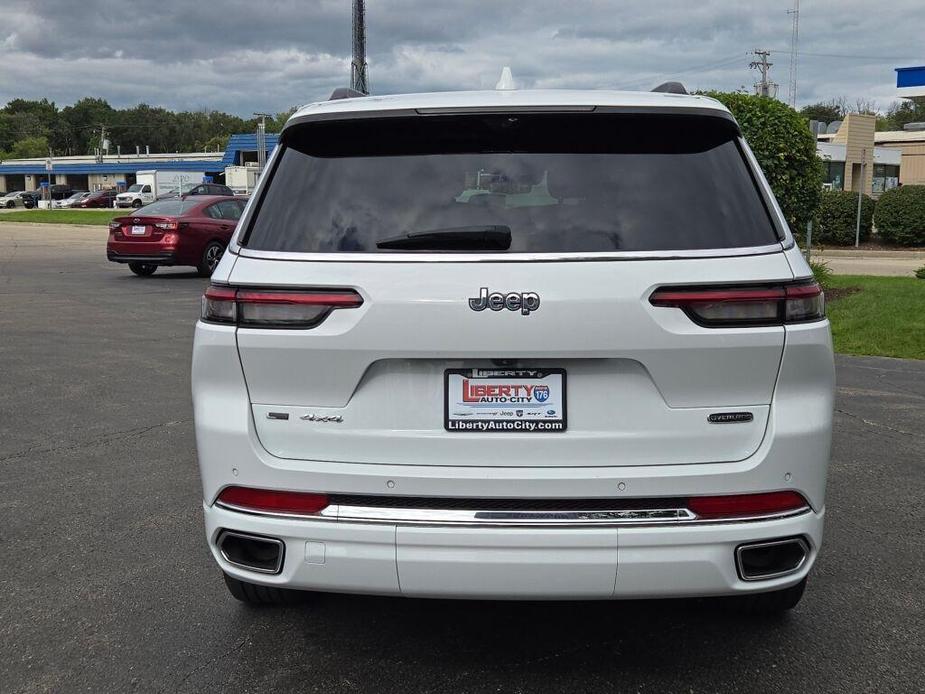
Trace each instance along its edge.
<path fill-rule="evenodd" d="M 499 251 L 507 253 L 775 243 L 737 138 L 732 122 L 702 116 L 482 114 L 305 124 L 286 133 L 243 245 L 395 253 L 408 251 L 377 244 L 489 227 L 510 229 L 509 247 Z"/>

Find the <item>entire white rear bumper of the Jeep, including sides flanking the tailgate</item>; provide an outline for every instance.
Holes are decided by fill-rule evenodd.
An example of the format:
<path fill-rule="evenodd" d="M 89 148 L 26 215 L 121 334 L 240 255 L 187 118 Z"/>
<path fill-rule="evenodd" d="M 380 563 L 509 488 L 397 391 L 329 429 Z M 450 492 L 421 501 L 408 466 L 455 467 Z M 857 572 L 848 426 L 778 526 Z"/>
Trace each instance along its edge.
<path fill-rule="evenodd" d="M 820 333 L 824 335 L 820 337 Z M 824 338 L 824 339 L 823 339 Z M 207 538 L 244 581 L 347 593 L 503 599 L 734 595 L 786 588 L 822 541 L 834 370 L 827 325 L 788 329 L 764 439 L 736 462 L 607 467 L 475 467 L 292 460 L 257 437 L 235 329 L 200 324 L 193 405 Z M 576 454 L 580 455 L 580 451 Z M 469 527 L 251 515 L 214 505 L 228 485 L 346 495 L 468 498 L 655 498 L 793 490 L 811 510 L 775 520 L 613 527 Z M 229 564 L 222 529 L 278 538 L 278 575 Z M 743 581 L 735 549 L 800 537 L 809 555 L 786 576 Z"/>

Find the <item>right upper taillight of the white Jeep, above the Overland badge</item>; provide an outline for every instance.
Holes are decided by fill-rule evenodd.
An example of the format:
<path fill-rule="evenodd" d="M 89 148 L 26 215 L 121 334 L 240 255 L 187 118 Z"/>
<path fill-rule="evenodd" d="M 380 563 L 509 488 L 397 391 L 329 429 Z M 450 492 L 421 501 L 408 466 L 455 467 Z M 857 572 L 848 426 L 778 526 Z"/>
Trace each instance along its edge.
<path fill-rule="evenodd" d="M 682 309 L 710 328 L 803 323 L 825 318 L 825 295 L 815 282 L 774 286 L 663 287 L 653 306 Z"/>

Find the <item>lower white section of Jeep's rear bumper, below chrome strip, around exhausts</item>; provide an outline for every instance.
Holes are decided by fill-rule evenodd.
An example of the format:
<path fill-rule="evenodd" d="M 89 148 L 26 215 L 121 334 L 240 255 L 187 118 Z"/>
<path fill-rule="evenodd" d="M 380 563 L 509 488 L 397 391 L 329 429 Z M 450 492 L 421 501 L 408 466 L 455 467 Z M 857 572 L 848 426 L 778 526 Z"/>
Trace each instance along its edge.
<path fill-rule="evenodd" d="M 786 588 L 812 569 L 824 512 L 697 526 L 482 528 L 277 518 L 205 506 L 215 560 L 241 580 L 302 590 L 472 599 L 614 599 L 736 595 Z M 281 572 L 230 564 L 222 530 L 278 538 Z M 799 536 L 809 555 L 784 577 L 743 581 L 735 549 Z"/>

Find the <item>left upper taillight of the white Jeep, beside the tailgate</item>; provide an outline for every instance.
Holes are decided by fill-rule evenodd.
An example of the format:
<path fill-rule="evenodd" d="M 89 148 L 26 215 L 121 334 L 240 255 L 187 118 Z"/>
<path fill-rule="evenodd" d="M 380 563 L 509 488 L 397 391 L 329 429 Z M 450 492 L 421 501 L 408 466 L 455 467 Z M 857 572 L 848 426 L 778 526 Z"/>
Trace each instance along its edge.
<path fill-rule="evenodd" d="M 363 298 L 352 289 L 271 290 L 209 287 L 201 318 L 251 328 L 313 328 L 338 308 L 358 308 Z"/>

